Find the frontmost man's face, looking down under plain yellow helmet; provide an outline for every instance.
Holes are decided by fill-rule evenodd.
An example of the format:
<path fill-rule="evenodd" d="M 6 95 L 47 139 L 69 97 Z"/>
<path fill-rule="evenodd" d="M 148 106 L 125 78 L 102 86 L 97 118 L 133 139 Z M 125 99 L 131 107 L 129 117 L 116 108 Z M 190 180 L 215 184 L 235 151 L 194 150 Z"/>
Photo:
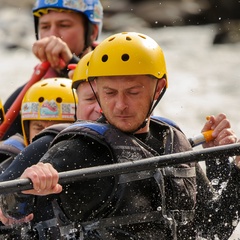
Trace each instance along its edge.
<path fill-rule="evenodd" d="M 148 114 L 157 81 L 149 76 L 117 76 L 99 77 L 96 83 L 108 122 L 124 132 L 135 131 Z"/>

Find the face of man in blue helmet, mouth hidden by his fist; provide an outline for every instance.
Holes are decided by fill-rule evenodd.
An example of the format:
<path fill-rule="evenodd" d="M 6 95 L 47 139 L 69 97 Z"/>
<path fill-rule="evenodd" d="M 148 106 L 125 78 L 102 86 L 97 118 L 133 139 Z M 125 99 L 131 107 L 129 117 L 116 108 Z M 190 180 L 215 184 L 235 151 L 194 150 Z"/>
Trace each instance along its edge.
<path fill-rule="evenodd" d="M 50 36 L 61 38 L 72 53 L 79 55 L 85 42 L 84 19 L 75 12 L 49 11 L 39 18 L 40 39 Z"/>

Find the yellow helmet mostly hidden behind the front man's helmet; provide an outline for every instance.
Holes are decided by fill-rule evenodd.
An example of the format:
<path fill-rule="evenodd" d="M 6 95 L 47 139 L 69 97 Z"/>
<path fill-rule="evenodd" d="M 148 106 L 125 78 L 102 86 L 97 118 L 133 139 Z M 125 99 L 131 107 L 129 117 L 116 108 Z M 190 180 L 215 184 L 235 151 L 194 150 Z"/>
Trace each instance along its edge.
<path fill-rule="evenodd" d="M 92 56 L 93 51 L 87 53 L 84 55 L 80 61 L 78 62 L 74 73 L 73 73 L 73 78 L 72 78 L 72 88 L 77 89 L 78 85 L 81 82 L 86 82 L 88 80 L 88 65 L 89 65 L 89 60 Z"/>

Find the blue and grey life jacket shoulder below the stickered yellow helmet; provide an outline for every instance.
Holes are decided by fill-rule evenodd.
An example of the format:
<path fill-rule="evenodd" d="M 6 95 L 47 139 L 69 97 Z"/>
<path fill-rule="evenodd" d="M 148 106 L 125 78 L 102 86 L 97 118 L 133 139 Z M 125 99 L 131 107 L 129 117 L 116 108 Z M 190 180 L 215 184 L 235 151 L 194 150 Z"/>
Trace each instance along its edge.
<path fill-rule="evenodd" d="M 18 133 L 0 142 L 0 172 L 3 172 L 24 148 L 23 136 Z"/>

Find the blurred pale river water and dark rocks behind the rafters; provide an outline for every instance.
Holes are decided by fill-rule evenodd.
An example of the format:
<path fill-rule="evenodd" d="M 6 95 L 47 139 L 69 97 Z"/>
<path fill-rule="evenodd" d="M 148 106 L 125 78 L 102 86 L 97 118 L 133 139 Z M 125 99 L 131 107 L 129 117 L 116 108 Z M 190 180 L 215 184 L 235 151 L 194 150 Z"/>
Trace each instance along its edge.
<path fill-rule="evenodd" d="M 33 0 L 0 0 L 0 99 L 28 81 L 38 60 Z M 240 137 L 240 1 L 102 0 L 103 31 L 137 31 L 154 38 L 167 62 L 169 88 L 155 111 L 189 137 L 206 116 L 225 113 Z M 240 227 L 232 236 L 239 239 Z"/>

